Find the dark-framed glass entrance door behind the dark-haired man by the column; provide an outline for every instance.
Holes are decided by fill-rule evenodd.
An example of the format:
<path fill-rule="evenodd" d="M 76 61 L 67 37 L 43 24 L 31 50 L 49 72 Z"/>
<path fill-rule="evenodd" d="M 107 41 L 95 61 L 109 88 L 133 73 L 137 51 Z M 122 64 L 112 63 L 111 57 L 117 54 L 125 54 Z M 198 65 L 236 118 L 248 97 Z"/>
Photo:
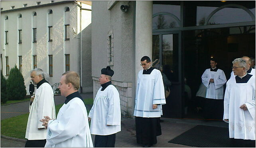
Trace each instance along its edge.
<path fill-rule="evenodd" d="M 162 75 L 171 81 L 162 117 L 182 117 L 180 33 L 153 33 L 152 66 L 162 65 Z M 166 80 L 166 79 L 163 79 Z M 164 82 L 164 84 L 167 84 Z"/>

